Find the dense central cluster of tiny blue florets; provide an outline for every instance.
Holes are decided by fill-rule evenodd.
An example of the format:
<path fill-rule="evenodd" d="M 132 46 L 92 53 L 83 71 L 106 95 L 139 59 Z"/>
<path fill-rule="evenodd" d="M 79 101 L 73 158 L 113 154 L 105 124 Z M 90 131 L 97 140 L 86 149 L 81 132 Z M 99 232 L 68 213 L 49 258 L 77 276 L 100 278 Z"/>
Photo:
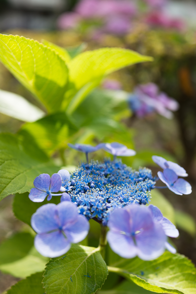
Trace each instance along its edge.
<path fill-rule="evenodd" d="M 149 168 L 135 171 L 120 159 L 105 159 L 103 163 L 81 163 L 64 187 L 80 214 L 88 219 L 97 217 L 107 225 L 114 208 L 149 203 L 155 180 Z"/>

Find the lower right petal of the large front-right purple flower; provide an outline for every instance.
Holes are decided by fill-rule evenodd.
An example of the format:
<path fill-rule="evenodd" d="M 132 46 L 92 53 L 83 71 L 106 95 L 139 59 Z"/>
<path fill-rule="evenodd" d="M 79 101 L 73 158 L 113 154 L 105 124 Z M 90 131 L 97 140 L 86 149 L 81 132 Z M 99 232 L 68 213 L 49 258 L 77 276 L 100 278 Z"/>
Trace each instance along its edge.
<path fill-rule="evenodd" d="M 165 250 L 166 235 L 162 225 L 154 223 L 153 227 L 145 228 L 135 235 L 138 257 L 143 260 L 158 258 Z"/>

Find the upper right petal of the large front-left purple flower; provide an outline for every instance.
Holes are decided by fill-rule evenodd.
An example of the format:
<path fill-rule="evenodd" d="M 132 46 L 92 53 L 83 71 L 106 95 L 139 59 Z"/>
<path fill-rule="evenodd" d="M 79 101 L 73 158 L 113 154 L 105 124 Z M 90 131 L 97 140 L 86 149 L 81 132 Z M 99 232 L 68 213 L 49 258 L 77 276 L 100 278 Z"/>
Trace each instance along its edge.
<path fill-rule="evenodd" d="M 76 205 L 70 201 L 63 201 L 57 204 L 56 209 L 63 229 L 75 223 L 79 217 Z"/>

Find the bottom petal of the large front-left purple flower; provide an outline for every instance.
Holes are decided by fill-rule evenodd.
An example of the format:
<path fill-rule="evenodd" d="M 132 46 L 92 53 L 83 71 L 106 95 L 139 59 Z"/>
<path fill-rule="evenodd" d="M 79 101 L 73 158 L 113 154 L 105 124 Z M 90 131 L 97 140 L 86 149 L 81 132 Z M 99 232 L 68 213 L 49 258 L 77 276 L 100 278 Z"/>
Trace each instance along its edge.
<path fill-rule="evenodd" d="M 35 236 L 34 245 L 37 251 L 46 257 L 57 257 L 66 253 L 71 244 L 61 231 Z"/>

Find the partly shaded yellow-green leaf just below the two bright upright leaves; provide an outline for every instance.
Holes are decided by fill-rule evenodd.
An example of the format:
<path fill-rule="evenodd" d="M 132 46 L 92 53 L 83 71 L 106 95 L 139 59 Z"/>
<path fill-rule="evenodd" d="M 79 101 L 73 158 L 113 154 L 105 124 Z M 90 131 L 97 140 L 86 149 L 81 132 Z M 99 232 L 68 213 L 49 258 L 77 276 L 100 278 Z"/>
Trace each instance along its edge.
<path fill-rule="evenodd" d="M 66 148 L 68 138 L 76 131 L 77 128 L 69 121 L 65 113 L 55 113 L 34 123 L 24 124 L 19 134 L 24 138 L 27 136 L 27 140 L 28 136 L 33 138 L 37 146 L 50 156 L 55 150 Z"/>

